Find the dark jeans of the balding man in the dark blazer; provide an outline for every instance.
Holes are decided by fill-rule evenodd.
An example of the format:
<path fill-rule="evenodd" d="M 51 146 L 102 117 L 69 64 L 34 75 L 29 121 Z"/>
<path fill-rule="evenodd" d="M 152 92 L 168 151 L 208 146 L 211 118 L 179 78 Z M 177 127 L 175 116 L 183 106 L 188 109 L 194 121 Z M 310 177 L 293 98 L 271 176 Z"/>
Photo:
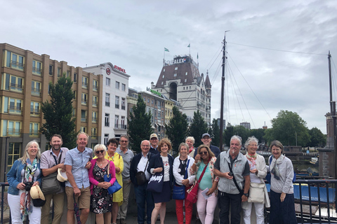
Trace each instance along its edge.
<path fill-rule="evenodd" d="M 152 193 L 146 190 L 147 183 L 141 186 L 135 186 L 135 195 L 137 202 L 138 211 L 138 223 L 145 223 L 145 201 L 146 201 L 146 211 L 147 211 L 147 223 L 151 224 L 152 210 L 154 209 L 154 202 Z"/>

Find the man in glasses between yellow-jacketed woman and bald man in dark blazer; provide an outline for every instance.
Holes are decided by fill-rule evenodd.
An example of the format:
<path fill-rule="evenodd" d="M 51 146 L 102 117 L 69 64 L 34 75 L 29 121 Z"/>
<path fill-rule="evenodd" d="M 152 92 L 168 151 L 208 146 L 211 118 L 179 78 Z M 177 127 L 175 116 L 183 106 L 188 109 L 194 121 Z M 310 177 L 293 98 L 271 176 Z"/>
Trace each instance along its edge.
<path fill-rule="evenodd" d="M 121 172 L 121 177 L 123 179 L 123 204 L 119 207 L 117 224 L 126 224 L 125 218 L 126 213 L 128 212 L 128 195 L 130 194 L 131 188 L 130 165 L 133 158 L 133 152 L 128 149 L 128 137 L 126 135 L 121 136 L 119 145 L 116 152 L 123 158 L 124 169 L 123 172 Z"/>

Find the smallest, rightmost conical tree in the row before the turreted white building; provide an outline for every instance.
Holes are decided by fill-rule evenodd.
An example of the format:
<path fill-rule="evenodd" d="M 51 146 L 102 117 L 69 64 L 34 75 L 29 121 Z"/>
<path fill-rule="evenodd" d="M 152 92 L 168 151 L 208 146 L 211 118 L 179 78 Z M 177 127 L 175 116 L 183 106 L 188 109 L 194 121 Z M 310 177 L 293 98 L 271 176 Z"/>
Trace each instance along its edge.
<path fill-rule="evenodd" d="M 193 120 L 188 131 L 189 136 L 194 137 L 194 147 L 199 147 L 202 144 L 201 136 L 209 130 L 204 118 L 201 117 L 201 113 L 198 110 L 194 112 Z"/>

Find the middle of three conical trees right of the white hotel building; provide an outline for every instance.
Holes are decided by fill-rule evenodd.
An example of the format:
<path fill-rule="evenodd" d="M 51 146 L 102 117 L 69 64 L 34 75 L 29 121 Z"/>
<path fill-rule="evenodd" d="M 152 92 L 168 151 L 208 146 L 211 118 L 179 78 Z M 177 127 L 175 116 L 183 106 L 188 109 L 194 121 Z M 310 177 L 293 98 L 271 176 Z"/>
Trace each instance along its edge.
<path fill-rule="evenodd" d="M 166 135 L 172 144 L 172 150 L 178 153 L 180 143 L 185 142 L 187 134 L 187 116 L 185 113 L 180 113 L 176 106 L 173 106 L 173 117 L 169 124 L 165 124 Z"/>

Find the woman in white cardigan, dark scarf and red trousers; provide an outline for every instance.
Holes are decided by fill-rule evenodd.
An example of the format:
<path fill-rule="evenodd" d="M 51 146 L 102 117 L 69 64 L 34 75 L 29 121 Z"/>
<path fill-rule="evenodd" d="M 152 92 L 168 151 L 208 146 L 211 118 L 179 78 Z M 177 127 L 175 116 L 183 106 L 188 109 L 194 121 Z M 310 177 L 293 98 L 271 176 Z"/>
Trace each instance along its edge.
<path fill-rule="evenodd" d="M 180 153 L 179 157 L 176 157 L 173 162 L 173 176 L 176 179 L 176 185 L 178 186 L 185 186 L 185 199 L 187 197 L 186 191 L 190 189 L 192 186 L 195 176 L 191 175 L 190 173 L 190 167 L 192 167 L 194 163 L 194 159 L 190 157 L 190 155 L 187 155 L 188 153 L 188 145 L 185 143 L 180 144 L 178 151 Z M 188 167 L 187 167 L 188 163 Z M 186 179 L 185 172 L 187 171 Z M 184 223 L 184 214 L 183 214 L 183 204 L 184 200 L 176 200 L 176 213 L 178 218 L 178 223 L 183 224 Z M 192 220 L 192 211 L 193 210 L 193 204 L 187 200 L 185 200 L 185 223 L 190 224 Z"/>

